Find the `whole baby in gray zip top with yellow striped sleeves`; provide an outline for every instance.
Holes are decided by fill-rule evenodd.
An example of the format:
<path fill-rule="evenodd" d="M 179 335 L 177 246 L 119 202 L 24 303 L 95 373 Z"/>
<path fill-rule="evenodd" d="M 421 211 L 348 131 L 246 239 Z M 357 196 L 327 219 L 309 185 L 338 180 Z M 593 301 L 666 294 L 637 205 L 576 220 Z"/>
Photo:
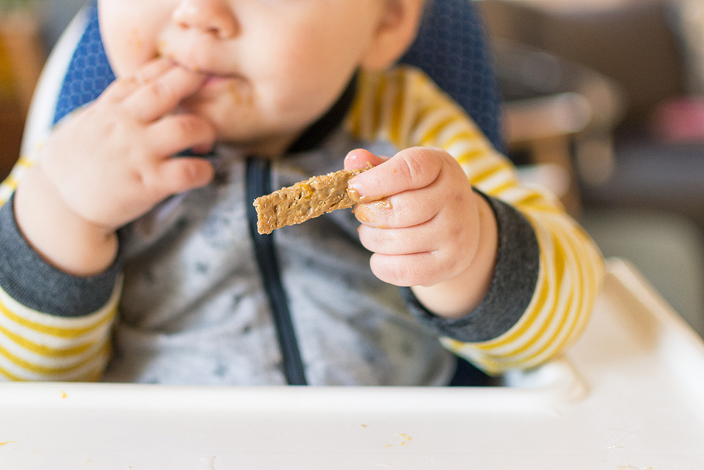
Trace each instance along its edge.
<path fill-rule="evenodd" d="M 420 70 L 422 0 L 99 0 L 117 80 L 0 195 L 0 378 L 446 385 L 541 364 L 603 271 Z M 353 212 L 256 233 L 312 175 Z"/>

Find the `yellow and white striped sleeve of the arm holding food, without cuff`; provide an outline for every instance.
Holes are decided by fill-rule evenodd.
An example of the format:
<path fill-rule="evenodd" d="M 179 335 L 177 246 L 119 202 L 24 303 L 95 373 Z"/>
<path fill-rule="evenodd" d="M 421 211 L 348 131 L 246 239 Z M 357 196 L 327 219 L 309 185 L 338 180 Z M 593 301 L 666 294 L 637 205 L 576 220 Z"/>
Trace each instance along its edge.
<path fill-rule="evenodd" d="M 491 319 L 492 324 L 504 324 L 505 328 L 489 338 L 465 339 L 474 338 L 471 332 L 455 338 L 444 335 L 443 344 L 489 373 L 536 366 L 564 350 L 589 319 L 603 276 L 601 253 L 589 235 L 565 213 L 553 194 L 522 185 L 513 164 L 422 72 L 402 66 L 384 73 L 363 73 L 358 87 L 347 122 L 353 134 L 362 140 L 386 140 L 398 149 L 445 149 L 460 163 L 470 183 L 494 199 L 495 212 L 501 205 L 518 214 L 537 242 L 535 279 L 526 307 L 516 318 L 508 325 Z M 500 233 L 506 243 L 511 236 Z M 498 256 L 501 249 L 500 242 Z M 504 286 L 503 293 L 510 296 L 510 288 Z M 489 313 L 501 317 L 507 310 L 495 308 Z M 464 323 L 455 323 L 464 324 L 465 329 L 476 328 L 467 326 L 476 320 L 471 318 L 475 314 L 480 316 L 475 311 L 463 319 Z M 439 329 L 441 335 L 443 331 Z"/>

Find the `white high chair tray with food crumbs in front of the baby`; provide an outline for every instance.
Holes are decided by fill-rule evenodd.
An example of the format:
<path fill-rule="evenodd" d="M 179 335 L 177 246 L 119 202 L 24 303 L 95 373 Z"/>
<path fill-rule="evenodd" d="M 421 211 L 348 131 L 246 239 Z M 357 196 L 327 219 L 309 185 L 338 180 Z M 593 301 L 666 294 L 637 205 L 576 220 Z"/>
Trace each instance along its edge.
<path fill-rule="evenodd" d="M 568 354 L 506 381 L 0 383 L 0 469 L 704 468 L 704 344 L 623 261 Z"/>

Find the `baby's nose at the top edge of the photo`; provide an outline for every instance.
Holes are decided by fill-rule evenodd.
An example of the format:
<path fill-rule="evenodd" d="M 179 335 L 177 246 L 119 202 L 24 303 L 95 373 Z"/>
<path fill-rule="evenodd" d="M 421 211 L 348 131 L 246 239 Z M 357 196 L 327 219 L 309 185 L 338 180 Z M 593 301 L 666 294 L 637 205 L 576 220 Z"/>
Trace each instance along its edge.
<path fill-rule="evenodd" d="M 181 0 L 172 16 L 183 28 L 197 28 L 219 39 L 237 35 L 239 25 L 225 0 Z"/>

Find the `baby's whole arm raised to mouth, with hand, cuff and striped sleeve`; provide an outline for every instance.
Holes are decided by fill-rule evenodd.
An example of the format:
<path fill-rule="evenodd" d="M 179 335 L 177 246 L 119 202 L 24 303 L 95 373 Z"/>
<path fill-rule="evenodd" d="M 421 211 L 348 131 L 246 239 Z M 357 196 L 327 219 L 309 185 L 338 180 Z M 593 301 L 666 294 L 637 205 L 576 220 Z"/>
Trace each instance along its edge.
<path fill-rule="evenodd" d="M 156 59 L 65 118 L 0 185 L 0 379 L 90 380 L 120 297 L 115 230 L 206 184 L 206 121 L 173 114 L 203 77 Z M 16 190 L 16 191 L 15 191 Z"/>

